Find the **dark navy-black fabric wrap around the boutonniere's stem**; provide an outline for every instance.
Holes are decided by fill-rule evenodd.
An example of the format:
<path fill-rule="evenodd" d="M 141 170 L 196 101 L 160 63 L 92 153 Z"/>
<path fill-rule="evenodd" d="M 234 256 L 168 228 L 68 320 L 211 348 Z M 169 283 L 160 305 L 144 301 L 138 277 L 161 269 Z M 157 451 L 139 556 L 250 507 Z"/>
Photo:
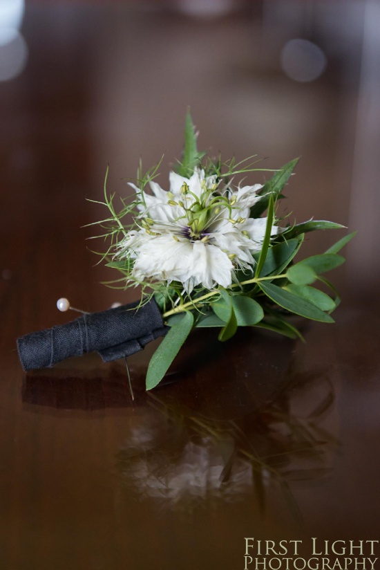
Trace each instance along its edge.
<path fill-rule="evenodd" d="M 85 314 L 53 329 L 21 336 L 17 349 L 23 369 L 50 367 L 84 352 L 97 351 L 104 362 L 110 362 L 142 350 L 168 328 L 155 300 L 139 305 L 135 302 Z"/>

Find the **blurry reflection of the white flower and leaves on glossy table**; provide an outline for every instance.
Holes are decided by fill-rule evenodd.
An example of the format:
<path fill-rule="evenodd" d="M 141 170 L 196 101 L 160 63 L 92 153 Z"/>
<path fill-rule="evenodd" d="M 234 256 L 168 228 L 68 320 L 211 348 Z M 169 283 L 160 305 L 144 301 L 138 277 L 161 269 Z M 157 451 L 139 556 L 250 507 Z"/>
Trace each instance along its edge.
<path fill-rule="evenodd" d="M 117 453 L 125 486 L 140 500 L 178 511 L 206 499 L 247 501 L 252 493 L 261 514 L 280 491 L 301 522 L 292 487 L 331 475 L 339 447 L 324 425 L 334 410 L 334 387 L 324 370 L 298 375 L 291 365 L 280 378 L 255 410 L 248 397 L 237 416 L 215 417 L 207 404 L 206 413 L 199 404 L 189 407 L 183 392 L 177 398 L 149 392 L 151 409 L 140 408 L 144 421 L 129 430 Z"/>

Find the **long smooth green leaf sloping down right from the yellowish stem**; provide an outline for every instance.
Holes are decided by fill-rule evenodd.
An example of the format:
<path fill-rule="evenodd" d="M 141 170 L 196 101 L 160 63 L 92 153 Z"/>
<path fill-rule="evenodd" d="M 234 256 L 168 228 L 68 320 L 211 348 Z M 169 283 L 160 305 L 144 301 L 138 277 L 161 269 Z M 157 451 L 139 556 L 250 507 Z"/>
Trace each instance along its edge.
<path fill-rule="evenodd" d="M 272 299 L 272 301 L 291 313 L 316 321 L 334 322 L 330 315 L 326 315 L 317 306 L 295 293 L 286 291 L 286 289 L 278 287 L 273 283 L 259 282 L 258 286 L 269 299 Z"/>

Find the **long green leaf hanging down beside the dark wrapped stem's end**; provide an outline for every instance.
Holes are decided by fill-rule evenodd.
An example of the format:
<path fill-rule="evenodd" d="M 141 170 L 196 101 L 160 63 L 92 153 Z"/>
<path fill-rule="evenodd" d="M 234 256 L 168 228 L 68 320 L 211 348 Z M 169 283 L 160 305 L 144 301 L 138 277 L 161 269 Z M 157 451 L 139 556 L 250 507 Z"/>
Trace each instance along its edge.
<path fill-rule="evenodd" d="M 164 378 L 171 362 L 173 362 L 182 344 L 189 336 L 193 327 L 194 318 L 192 313 L 186 311 L 182 313 L 182 318 L 169 329 L 169 332 L 162 340 L 160 346 L 155 351 L 149 362 L 146 374 L 146 389 L 151 390 L 157 386 Z"/>

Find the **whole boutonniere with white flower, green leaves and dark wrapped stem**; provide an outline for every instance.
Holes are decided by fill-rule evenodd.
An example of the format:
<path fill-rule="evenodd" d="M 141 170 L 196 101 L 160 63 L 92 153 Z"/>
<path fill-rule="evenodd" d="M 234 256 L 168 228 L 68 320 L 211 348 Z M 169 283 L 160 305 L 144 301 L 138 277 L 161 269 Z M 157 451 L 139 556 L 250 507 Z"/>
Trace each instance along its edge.
<path fill-rule="evenodd" d="M 140 302 L 84 315 L 64 325 L 66 333 L 54 327 L 19 339 L 24 369 L 92 350 L 113 360 L 165 335 L 149 363 L 146 389 L 151 389 L 192 329 L 216 327 L 221 341 L 247 326 L 296 338 L 301 333 L 289 322 L 292 314 L 333 322 L 330 313 L 339 296 L 324 274 L 343 263 L 339 250 L 354 234 L 321 255 L 294 263 L 306 232 L 343 228 L 314 220 L 292 225 L 276 217 L 276 203 L 297 160 L 274 171 L 263 185 L 247 185 L 247 174 L 267 172 L 253 157 L 238 163 L 206 158 L 197 150 L 189 113 L 184 136 L 182 160 L 169 175 L 169 190 L 155 181 L 159 163 L 146 174 L 140 166 L 131 183 L 134 194 L 122 199 L 120 210 L 115 195 L 104 193 L 108 216 L 99 222 L 102 237 L 109 239 L 104 259 L 122 273 L 113 286 L 142 288 Z M 330 288 L 334 298 L 314 282 Z"/>

